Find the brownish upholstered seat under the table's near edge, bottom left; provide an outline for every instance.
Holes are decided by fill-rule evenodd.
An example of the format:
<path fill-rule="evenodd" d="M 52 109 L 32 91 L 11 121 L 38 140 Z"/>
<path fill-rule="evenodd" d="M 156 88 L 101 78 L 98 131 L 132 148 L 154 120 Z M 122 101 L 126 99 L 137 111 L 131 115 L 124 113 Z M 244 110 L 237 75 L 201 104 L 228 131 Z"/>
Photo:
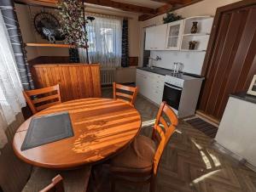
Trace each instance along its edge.
<path fill-rule="evenodd" d="M 55 171 L 35 167 L 22 192 L 36 192 L 51 184 L 51 179 L 60 174 L 65 192 L 85 192 L 90 178 L 90 166 L 69 171 Z"/>

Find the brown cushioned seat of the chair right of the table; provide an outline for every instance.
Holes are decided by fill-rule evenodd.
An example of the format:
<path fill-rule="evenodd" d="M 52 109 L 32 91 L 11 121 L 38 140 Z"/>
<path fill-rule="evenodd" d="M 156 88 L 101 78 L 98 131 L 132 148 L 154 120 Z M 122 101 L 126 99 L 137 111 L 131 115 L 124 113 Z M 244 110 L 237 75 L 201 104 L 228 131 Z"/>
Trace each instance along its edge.
<path fill-rule="evenodd" d="M 130 146 L 110 161 L 112 172 L 151 172 L 156 144 L 151 138 L 137 136 Z"/>

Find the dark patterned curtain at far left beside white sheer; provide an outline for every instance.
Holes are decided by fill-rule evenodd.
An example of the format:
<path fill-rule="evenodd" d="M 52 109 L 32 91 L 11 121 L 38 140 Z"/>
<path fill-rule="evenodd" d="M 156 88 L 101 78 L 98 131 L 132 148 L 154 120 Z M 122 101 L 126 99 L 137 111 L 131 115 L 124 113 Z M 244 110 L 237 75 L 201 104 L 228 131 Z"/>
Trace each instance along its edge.
<path fill-rule="evenodd" d="M 8 29 L 11 46 L 15 53 L 15 61 L 20 73 L 21 83 L 24 89 L 33 89 L 32 76 L 27 64 L 26 54 L 23 47 L 22 37 L 20 33 L 20 25 L 15 13 L 14 1 L 1 0 L 0 9 L 3 15 L 3 21 Z"/>

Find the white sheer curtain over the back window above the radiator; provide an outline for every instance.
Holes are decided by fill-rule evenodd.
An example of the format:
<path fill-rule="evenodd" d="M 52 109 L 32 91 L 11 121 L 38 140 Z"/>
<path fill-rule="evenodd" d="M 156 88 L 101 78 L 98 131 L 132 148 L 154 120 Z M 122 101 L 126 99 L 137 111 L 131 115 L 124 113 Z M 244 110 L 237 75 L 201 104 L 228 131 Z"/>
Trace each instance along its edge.
<path fill-rule="evenodd" d="M 92 63 L 103 67 L 118 67 L 122 56 L 122 20 L 95 16 L 86 26 L 89 39 L 89 56 Z M 79 48 L 80 61 L 85 60 L 85 52 Z"/>

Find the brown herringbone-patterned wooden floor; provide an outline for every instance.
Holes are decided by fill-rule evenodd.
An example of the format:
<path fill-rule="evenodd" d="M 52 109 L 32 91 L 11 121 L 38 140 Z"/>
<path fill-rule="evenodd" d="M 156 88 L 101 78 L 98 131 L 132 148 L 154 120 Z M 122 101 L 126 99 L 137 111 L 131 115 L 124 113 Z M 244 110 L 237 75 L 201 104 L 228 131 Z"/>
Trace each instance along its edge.
<path fill-rule="evenodd" d="M 104 90 L 104 97 L 111 97 Z M 141 96 L 136 108 L 143 117 L 142 134 L 150 135 L 149 126 L 158 108 Z M 152 121 L 153 120 L 153 121 Z M 91 179 L 90 191 L 110 191 L 108 167 L 96 166 L 101 171 L 96 180 Z M 144 192 L 148 186 L 118 184 L 117 192 Z M 256 191 L 256 172 L 213 149 L 212 138 L 180 121 L 160 162 L 157 192 L 253 192 Z"/>

